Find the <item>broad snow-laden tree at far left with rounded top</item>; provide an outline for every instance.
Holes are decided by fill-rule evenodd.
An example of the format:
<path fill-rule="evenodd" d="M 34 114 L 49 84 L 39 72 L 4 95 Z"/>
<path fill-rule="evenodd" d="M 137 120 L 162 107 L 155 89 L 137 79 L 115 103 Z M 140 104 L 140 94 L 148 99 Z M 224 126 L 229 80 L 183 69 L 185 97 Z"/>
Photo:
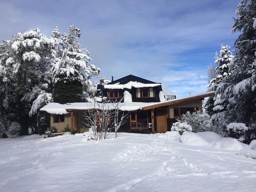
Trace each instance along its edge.
<path fill-rule="evenodd" d="M 11 103 L 15 110 L 15 117 L 9 119 L 10 122 L 19 122 L 21 134 L 27 134 L 28 127 L 36 128 L 38 124 L 38 115 L 31 119 L 29 111 L 30 115 L 34 114 L 37 110 L 33 109 L 38 109 L 42 100 L 50 100 L 46 92 L 51 83 L 50 59 L 53 47 L 58 46 L 58 43 L 47 38 L 38 28 L 23 34 L 17 33 L 11 41 L 6 42 L 11 43 L 11 49 L 7 46 L 4 49 L 7 59 L 1 58 L 1 63 L 5 62 L 2 71 L 6 72 L 2 81 L 12 84 L 13 101 L 7 103 Z M 40 98 L 38 95 L 41 95 Z M 35 98 L 37 102 L 33 102 Z"/>

